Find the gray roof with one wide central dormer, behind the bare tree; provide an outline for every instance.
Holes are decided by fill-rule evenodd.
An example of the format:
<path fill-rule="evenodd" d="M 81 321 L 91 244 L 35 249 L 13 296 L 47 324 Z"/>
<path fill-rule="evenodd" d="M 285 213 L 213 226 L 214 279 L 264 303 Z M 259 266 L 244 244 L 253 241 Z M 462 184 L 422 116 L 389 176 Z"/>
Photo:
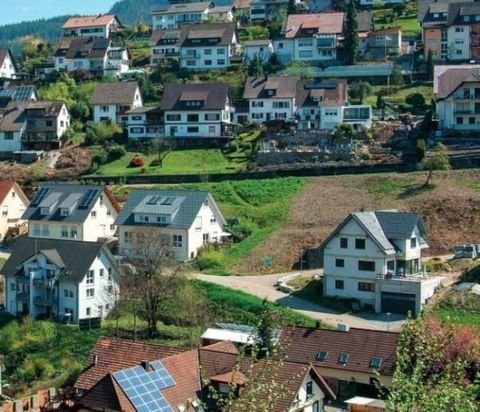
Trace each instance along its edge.
<path fill-rule="evenodd" d="M 164 202 L 168 197 L 172 198 L 170 199 L 171 201 Z M 115 220 L 115 224 L 126 226 L 160 226 L 160 224 L 156 223 L 135 222 L 135 213 L 168 214 L 172 215 L 173 219 L 168 224 L 162 224 L 162 227 L 188 229 L 195 221 L 195 217 L 205 200 L 208 200 L 209 205 L 217 214 L 217 219 L 225 224 L 225 219 L 209 192 L 155 189 L 134 189 Z M 168 204 L 162 205 L 162 203 Z"/>

